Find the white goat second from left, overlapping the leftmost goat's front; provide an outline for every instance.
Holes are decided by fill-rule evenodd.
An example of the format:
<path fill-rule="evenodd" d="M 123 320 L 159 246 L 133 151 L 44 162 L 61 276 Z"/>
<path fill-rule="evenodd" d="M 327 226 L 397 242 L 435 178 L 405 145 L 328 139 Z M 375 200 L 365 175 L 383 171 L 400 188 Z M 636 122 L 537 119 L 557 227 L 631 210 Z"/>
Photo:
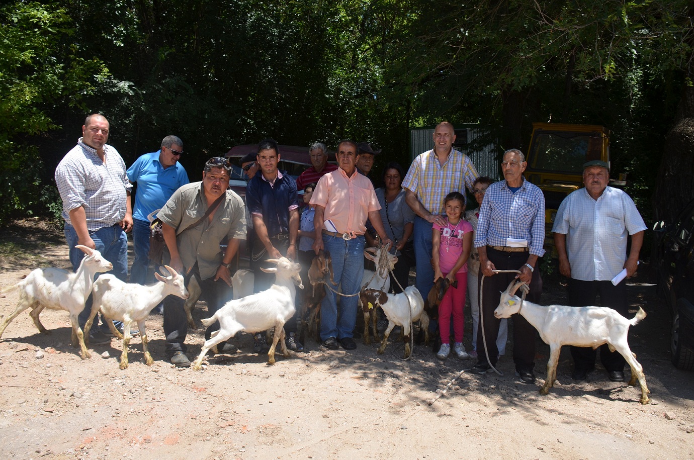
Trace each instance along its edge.
<path fill-rule="evenodd" d="M 130 325 L 137 323 L 137 329 L 142 337 L 142 351 L 147 366 L 154 362 L 147 349 L 147 334 L 144 332 L 144 321 L 154 307 L 164 300 L 166 296 L 173 295 L 187 298 L 188 291 L 183 283 L 183 275 L 176 273 L 170 266 L 166 269 L 171 273 L 164 277 L 154 273 L 159 282 L 149 286 L 142 284 L 122 282 L 114 275 L 102 275 L 94 282 L 94 303 L 85 330 L 89 330 L 94 321 L 96 312 L 101 312 L 106 324 L 113 335 L 123 339 L 123 352 L 121 352 L 120 368 L 128 368 L 128 346 L 130 345 Z M 164 273 L 163 269 L 160 269 Z M 107 319 L 108 318 L 108 319 Z M 123 334 L 116 330 L 113 321 L 123 321 Z M 88 341 L 88 338 L 87 338 Z"/>

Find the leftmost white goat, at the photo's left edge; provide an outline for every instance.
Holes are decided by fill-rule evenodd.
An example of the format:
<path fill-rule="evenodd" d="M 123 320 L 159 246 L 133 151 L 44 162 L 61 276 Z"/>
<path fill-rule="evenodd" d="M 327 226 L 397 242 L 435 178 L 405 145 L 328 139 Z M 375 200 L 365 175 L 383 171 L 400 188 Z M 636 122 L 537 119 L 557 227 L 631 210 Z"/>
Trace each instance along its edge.
<path fill-rule="evenodd" d="M 82 359 L 90 357 L 85 346 L 84 334 L 79 327 L 77 318 L 85 307 L 85 302 L 92 292 L 94 275 L 113 269 L 113 265 L 104 259 L 98 250 L 87 248 L 78 244 L 76 248 L 82 250 L 86 256 L 80 262 L 75 273 L 62 269 L 35 269 L 24 280 L 6 291 L 19 288 L 19 302 L 14 312 L 0 325 L 0 337 L 10 321 L 17 315 L 31 307 L 29 316 L 42 334 L 51 334 L 51 331 L 41 324 L 39 315 L 44 308 L 65 310 L 70 314 L 72 323 L 72 345 L 80 347 Z M 85 329 L 88 331 L 88 329 Z"/>

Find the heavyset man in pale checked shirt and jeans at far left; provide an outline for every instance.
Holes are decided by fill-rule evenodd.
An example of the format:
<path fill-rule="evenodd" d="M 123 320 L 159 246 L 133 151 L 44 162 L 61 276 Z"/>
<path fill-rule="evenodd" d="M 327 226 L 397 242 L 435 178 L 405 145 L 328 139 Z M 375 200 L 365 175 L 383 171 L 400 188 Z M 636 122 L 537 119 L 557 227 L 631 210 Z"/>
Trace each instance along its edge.
<path fill-rule="evenodd" d="M 56 184 L 62 198 L 62 218 L 65 219 L 65 239 L 72 269 L 76 271 L 85 256 L 75 248 L 82 244 L 98 250 L 113 264 L 112 273 L 127 281 L 126 232 L 133 228 L 130 209 L 133 185 L 126 176 L 123 158 L 115 148 L 106 144 L 108 128 L 108 120 L 101 114 L 92 114 L 85 119 L 83 137 L 56 168 Z M 79 315 L 80 327 L 84 327 L 91 309 L 90 297 Z M 95 321 L 90 331 L 90 343 L 103 345 L 110 340 Z"/>

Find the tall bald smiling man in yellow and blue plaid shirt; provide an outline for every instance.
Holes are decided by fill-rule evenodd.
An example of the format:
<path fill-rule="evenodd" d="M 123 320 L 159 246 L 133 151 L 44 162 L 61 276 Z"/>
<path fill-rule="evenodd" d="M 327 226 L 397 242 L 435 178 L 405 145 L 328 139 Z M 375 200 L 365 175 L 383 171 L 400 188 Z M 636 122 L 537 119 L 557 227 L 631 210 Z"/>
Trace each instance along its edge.
<path fill-rule="evenodd" d="M 434 284 L 432 268 L 432 224 L 446 225 L 443 198 L 451 191 L 473 190 L 477 169 L 464 153 L 453 148 L 455 130 L 448 121 L 434 129 L 434 148 L 415 158 L 403 180 L 405 201 L 414 214 L 414 257 L 416 287 L 426 298 Z M 434 324 L 434 323 L 432 323 Z"/>

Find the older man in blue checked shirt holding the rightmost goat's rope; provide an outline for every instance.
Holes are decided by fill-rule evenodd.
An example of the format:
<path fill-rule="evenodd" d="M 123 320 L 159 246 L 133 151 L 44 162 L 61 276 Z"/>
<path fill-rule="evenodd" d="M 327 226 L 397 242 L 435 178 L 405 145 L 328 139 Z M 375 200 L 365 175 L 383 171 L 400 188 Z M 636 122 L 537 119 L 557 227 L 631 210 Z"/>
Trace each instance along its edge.
<path fill-rule="evenodd" d="M 542 248 L 545 241 L 545 197 L 538 187 L 525 180 L 525 167 L 527 163 L 521 151 L 516 148 L 506 151 L 501 163 L 505 180 L 487 187 L 480 206 L 475 248 L 480 253 L 480 271 L 486 277 L 480 289 L 482 312 L 477 330 L 475 371 L 480 374 L 491 372 L 491 366 L 498 359 L 496 337 L 501 320 L 494 317 L 494 309 L 499 305 L 501 291 L 511 280 L 519 278 L 530 285 L 527 300 L 537 302 L 542 293 L 537 258 L 545 253 Z M 493 270 L 520 270 L 521 273 L 494 273 Z M 479 278 L 481 282 L 482 276 Z M 535 328 L 520 314 L 511 318 L 514 321 L 516 376 L 521 377 L 523 383 L 533 383 Z"/>

